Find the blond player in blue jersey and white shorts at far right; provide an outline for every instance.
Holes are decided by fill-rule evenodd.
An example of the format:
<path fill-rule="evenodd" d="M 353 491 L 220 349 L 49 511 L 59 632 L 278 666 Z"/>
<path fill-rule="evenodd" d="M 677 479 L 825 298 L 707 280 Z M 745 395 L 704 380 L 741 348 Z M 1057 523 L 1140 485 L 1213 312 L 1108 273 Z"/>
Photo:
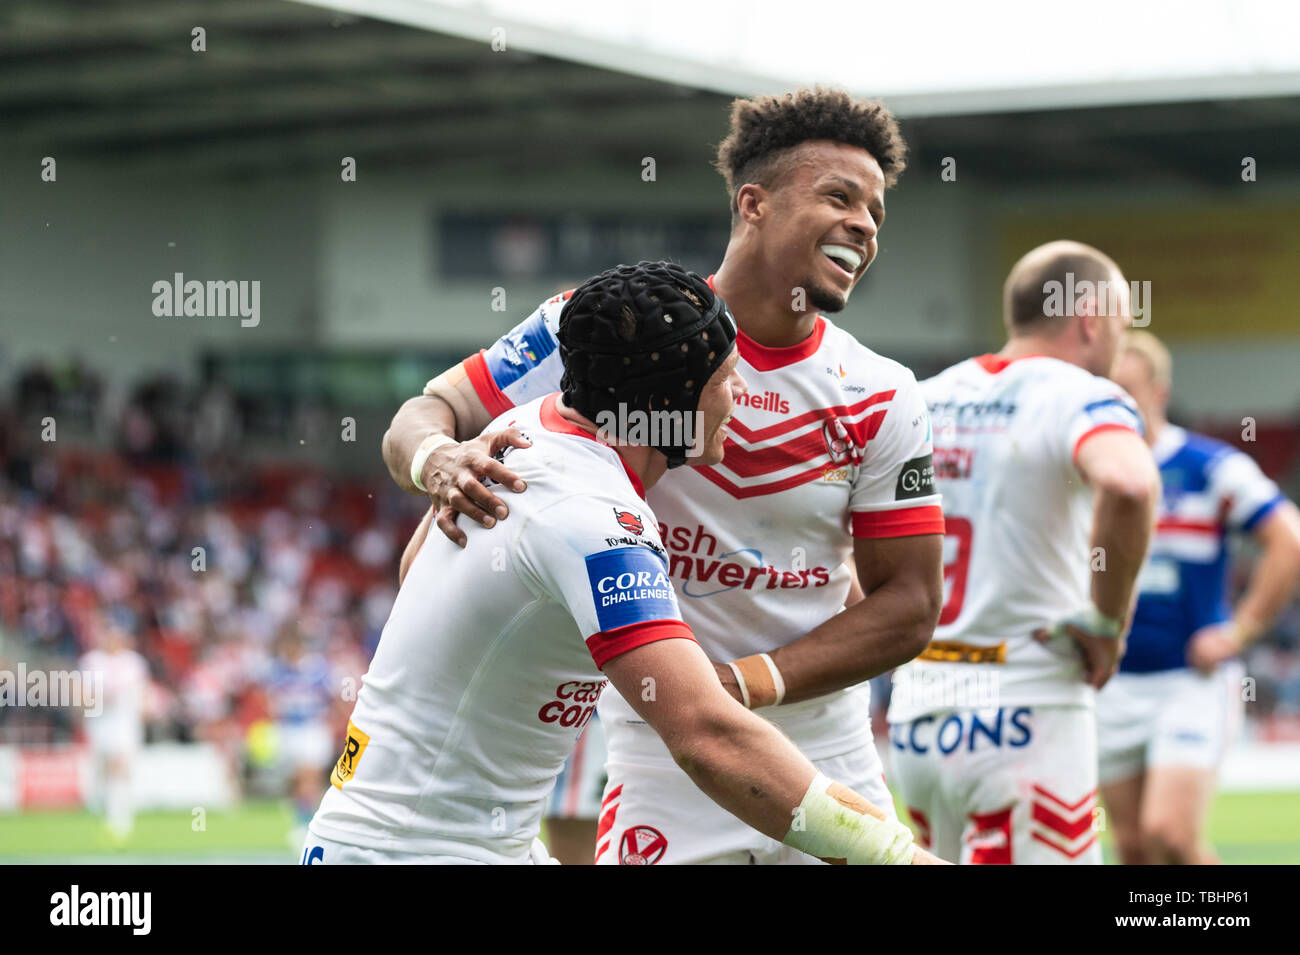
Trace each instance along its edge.
<path fill-rule="evenodd" d="M 1171 425 L 1169 350 L 1124 337 L 1115 381 L 1138 401 L 1164 498 L 1119 673 L 1097 698 L 1101 794 L 1127 864 L 1217 861 L 1205 839 L 1216 772 L 1242 719 L 1238 656 L 1300 582 L 1300 515 L 1248 455 Z M 1227 600 L 1227 538 L 1260 544 Z"/>

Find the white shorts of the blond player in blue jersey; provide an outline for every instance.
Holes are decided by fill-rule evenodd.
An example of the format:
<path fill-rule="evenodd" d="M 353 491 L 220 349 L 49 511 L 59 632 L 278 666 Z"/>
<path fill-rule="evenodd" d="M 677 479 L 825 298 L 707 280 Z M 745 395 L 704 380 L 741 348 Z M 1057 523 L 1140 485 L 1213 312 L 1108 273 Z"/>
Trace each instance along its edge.
<path fill-rule="evenodd" d="M 1242 726 L 1244 674 L 1235 660 L 1210 676 L 1117 673 L 1097 694 L 1101 782 L 1152 767 L 1217 770 Z"/>

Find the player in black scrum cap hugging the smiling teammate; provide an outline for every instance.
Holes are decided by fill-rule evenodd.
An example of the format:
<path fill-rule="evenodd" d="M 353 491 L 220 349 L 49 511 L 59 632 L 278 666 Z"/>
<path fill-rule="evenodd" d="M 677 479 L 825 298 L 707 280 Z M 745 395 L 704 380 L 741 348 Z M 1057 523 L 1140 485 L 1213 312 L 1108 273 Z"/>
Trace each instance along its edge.
<path fill-rule="evenodd" d="M 729 696 L 679 613 L 644 494 L 723 459 L 745 395 L 727 305 L 698 275 L 642 262 L 580 286 L 558 333 L 563 394 L 494 422 L 520 435 L 508 460 L 529 491 L 463 551 L 437 534 L 419 548 L 303 863 L 546 861 L 546 796 L 606 680 L 766 837 L 827 861 L 937 861 Z M 598 427 L 611 412 L 620 424 Z M 637 442 L 621 422 L 647 412 L 682 426 Z"/>

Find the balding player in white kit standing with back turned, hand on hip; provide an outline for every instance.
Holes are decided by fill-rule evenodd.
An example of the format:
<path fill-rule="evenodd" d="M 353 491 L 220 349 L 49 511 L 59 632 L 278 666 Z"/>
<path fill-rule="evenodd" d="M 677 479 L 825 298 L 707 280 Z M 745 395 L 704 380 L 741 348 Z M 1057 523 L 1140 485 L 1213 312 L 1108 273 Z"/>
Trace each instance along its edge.
<path fill-rule="evenodd" d="M 922 842 L 975 864 L 1098 863 L 1093 695 L 1114 673 L 1158 478 L 1106 376 L 1128 321 L 1118 266 L 1028 252 L 1008 343 L 922 382 L 944 495 L 935 639 L 894 677 L 890 763 Z"/>

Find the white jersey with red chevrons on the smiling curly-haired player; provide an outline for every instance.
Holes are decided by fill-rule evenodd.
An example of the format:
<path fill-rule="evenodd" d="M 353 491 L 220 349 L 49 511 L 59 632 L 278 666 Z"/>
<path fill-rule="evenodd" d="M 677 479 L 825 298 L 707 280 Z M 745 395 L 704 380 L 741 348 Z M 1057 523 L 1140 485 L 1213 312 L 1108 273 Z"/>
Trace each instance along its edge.
<path fill-rule="evenodd" d="M 559 388 L 555 333 L 569 294 L 467 360 L 491 413 Z M 728 425 L 725 460 L 688 461 L 650 490 L 682 618 L 715 663 L 776 650 L 840 612 L 854 537 L 944 528 L 930 418 L 911 372 L 824 317 L 797 346 L 767 348 L 741 331 L 737 347 L 749 395 Z M 862 686 L 762 713 L 819 759 L 867 745 L 868 711 Z M 614 722 L 637 721 L 612 690 L 601 719 L 611 752 Z M 658 739 L 646 745 L 654 751 L 642 759 L 668 759 Z"/>

